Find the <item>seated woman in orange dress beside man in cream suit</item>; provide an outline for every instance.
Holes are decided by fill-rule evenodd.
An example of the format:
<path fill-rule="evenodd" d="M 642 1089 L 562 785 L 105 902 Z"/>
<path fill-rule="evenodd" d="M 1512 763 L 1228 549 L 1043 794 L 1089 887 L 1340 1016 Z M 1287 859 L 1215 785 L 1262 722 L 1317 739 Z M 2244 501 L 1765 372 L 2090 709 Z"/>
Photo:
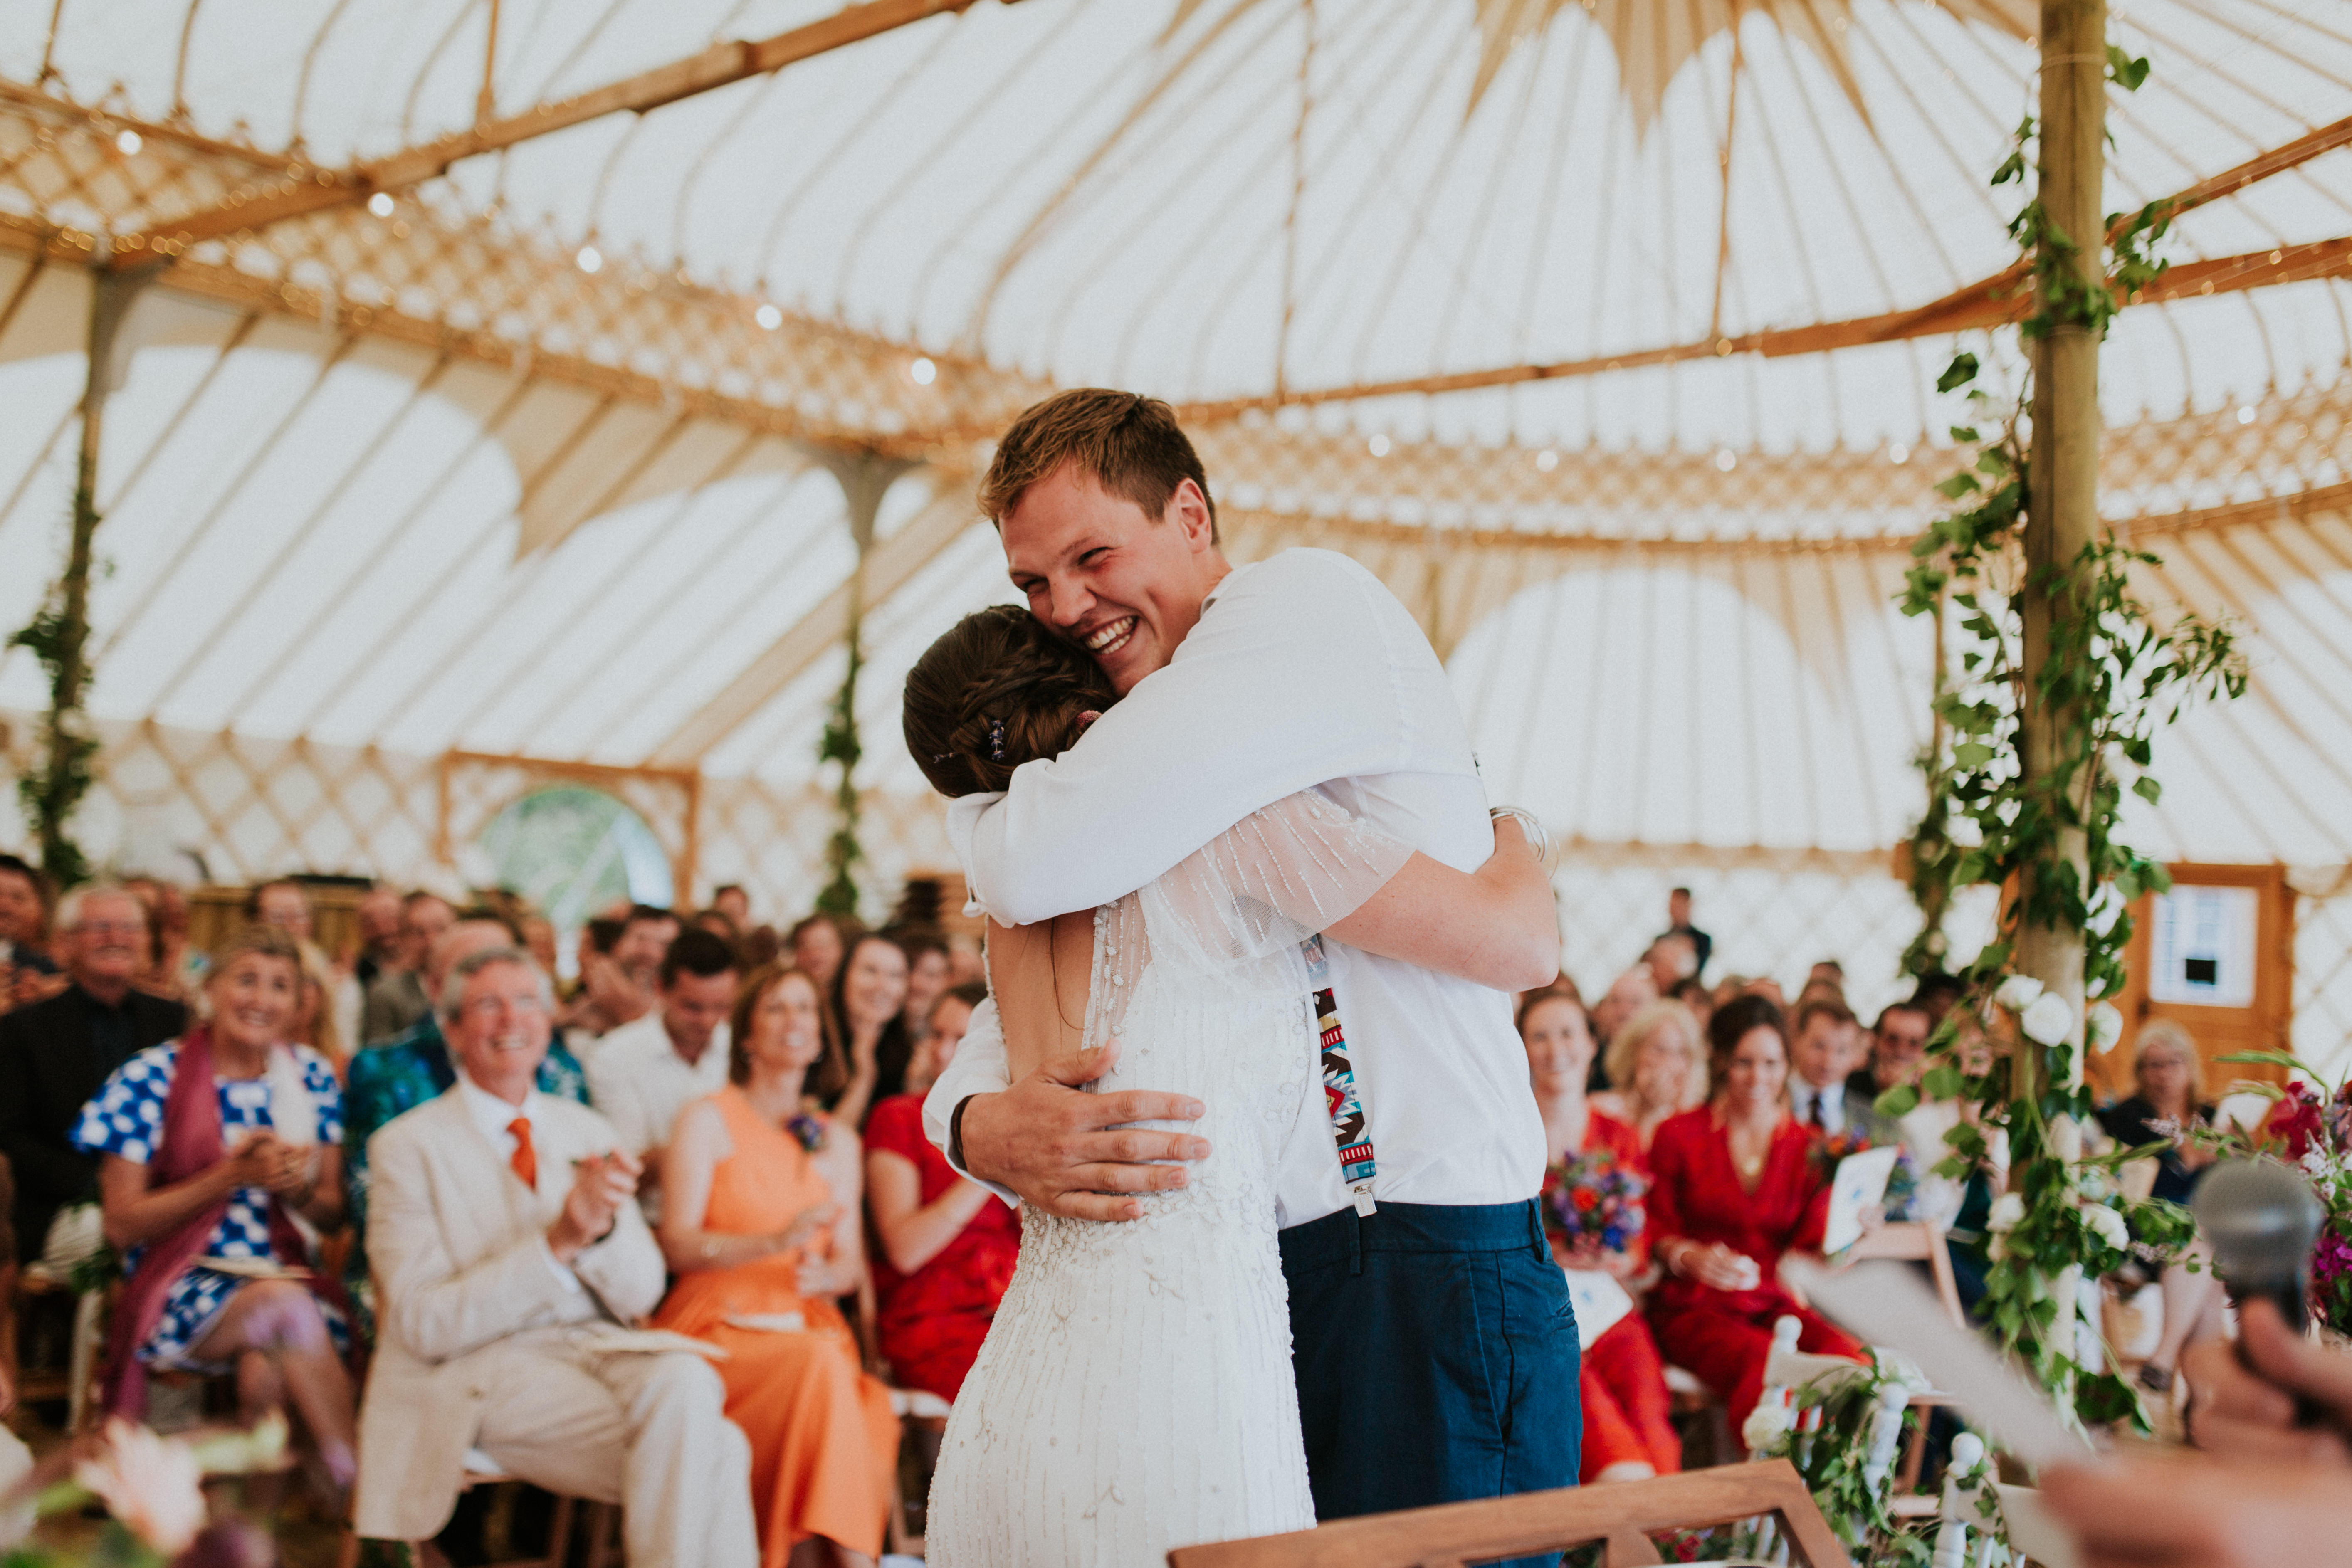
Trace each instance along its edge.
<path fill-rule="evenodd" d="M 727 1418 L 750 1439 L 764 1568 L 882 1554 L 898 1420 L 835 1298 L 861 1269 L 858 1138 L 802 1110 L 823 1001 L 797 969 L 743 980 L 727 1088 L 677 1117 L 661 1161 L 661 1251 L 677 1286 L 654 1324 L 727 1352 Z"/>

